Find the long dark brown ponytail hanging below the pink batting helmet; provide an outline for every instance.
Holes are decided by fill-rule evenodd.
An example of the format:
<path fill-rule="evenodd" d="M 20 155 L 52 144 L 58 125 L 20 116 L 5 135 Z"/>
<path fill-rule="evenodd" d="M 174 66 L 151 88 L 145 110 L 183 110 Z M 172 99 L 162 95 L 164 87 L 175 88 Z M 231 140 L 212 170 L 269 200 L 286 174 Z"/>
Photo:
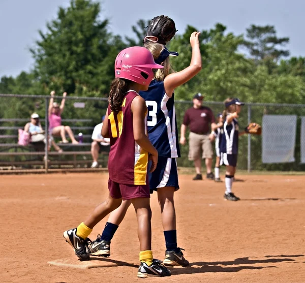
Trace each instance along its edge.
<path fill-rule="evenodd" d="M 118 112 L 119 107 L 123 103 L 126 92 L 130 88 L 130 80 L 116 78 L 112 81 L 110 85 L 110 92 L 108 102 L 110 104 L 110 109 L 113 112 Z"/>

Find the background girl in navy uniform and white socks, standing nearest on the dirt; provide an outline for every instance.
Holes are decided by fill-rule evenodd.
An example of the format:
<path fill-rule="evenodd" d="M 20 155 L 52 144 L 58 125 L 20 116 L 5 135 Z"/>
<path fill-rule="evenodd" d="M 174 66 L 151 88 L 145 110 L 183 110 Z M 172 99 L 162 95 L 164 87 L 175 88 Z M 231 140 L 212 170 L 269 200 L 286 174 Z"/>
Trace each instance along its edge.
<path fill-rule="evenodd" d="M 224 195 L 225 200 L 238 201 L 240 200 L 232 193 L 232 183 L 236 171 L 237 154 L 238 154 L 238 114 L 240 113 L 241 106 L 245 103 L 240 102 L 238 98 L 228 98 L 225 100 L 225 111 L 223 116 L 224 123 L 224 136 L 220 145 L 221 160 L 220 165 L 226 166 L 225 185 L 226 192 Z"/>

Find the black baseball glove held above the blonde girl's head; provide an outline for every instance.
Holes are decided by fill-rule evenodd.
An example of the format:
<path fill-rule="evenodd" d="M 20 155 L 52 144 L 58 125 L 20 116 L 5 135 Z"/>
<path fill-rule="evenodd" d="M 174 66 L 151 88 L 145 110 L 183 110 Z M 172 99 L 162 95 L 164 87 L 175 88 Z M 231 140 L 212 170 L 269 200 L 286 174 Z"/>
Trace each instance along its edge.
<path fill-rule="evenodd" d="M 147 32 L 143 39 L 143 44 L 147 41 L 147 38 L 155 37 L 157 41 L 153 39 L 151 39 L 151 41 L 165 45 L 174 37 L 177 31 L 175 22 L 168 16 L 161 15 L 155 17 L 147 26 Z"/>

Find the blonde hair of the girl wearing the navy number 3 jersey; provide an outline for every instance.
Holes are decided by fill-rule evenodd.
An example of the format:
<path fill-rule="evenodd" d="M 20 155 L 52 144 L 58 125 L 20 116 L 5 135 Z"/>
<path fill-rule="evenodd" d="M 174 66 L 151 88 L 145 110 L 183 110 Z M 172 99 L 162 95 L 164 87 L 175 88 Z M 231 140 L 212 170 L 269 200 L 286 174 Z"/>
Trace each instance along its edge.
<path fill-rule="evenodd" d="M 163 44 L 150 41 L 145 42 L 144 47 L 147 48 L 151 52 L 151 54 L 153 54 L 155 60 L 158 59 L 160 53 L 164 49 Z M 155 72 L 154 79 L 156 79 L 157 81 L 164 81 L 165 77 L 173 72 L 169 63 L 169 57 L 167 57 L 166 60 L 163 61 L 162 65 L 164 66 L 164 68 L 157 69 L 157 71 Z"/>

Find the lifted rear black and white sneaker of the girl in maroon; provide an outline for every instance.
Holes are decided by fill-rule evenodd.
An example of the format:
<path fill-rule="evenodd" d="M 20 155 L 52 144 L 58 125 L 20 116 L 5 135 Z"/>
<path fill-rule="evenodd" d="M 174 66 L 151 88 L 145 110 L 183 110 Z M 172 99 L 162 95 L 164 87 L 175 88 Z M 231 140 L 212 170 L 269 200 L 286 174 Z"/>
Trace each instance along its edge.
<path fill-rule="evenodd" d="M 64 238 L 66 242 L 71 245 L 75 251 L 75 255 L 81 260 L 89 259 L 89 248 L 88 246 L 92 243 L 89 238 L 85 240 L 76 235 L 77 229 L 70 229 L 64 232 Z"/>

